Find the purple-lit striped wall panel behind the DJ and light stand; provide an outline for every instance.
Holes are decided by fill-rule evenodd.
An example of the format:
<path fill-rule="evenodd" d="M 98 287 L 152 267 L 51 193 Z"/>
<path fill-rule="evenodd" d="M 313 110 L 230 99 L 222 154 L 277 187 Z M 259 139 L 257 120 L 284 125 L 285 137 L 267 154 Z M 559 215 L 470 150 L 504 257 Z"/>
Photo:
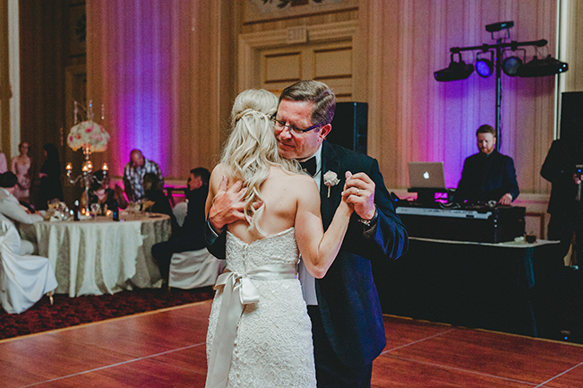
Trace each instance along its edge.
<path fill-rule="evenodd" d="M 555 53 L 556 2 L 548 0 L 374 0 L 361 7 L 369 23 L 369 153 L 389 187 L 408 187 L 408 161 L 443 161 L 456 187 L 463 162 L 476 153 L 476 129 L 495 125 L 495 76 L 436 82 L 450 47 L 495 44 L 485 25 L 513 21 L 510 39 L 546 39 L 526 47 L 527 61 Z M 496 36 L 494 36 L 496 38 Z M 522 58 L 522 54 L 517 56 Z M 476 51 L 462 53 L 475 63 Z M 502 73 L 501 152 L 517 168 L 523 193 L 544 193 L 540 167 L 553 141 L 553 76 Z"/>

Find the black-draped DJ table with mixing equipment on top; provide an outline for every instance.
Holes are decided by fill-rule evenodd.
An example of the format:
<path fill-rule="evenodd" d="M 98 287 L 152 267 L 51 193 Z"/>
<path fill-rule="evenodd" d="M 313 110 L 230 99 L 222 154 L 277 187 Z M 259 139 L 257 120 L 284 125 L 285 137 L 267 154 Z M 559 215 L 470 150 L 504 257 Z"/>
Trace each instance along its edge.
<path fill-rule="evenodd" d="M 397 261 L 373 265 L 383 313 L 539 335 L 536 285 L 562 266 L 562 258 L 555 241 L 520 238 L 525 208 L 396 211 L 409 250 Z"/>

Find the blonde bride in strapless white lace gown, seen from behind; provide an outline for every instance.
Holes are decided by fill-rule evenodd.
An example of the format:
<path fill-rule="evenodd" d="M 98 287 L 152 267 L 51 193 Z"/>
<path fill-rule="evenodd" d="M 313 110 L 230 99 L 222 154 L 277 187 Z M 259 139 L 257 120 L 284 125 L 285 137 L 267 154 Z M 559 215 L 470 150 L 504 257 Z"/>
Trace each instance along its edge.
<path fill-rule="evenodd" d="M 270 121 L 278 99 L 243 91 L 232 132 L 210 177 L 207 214 L 227 185 L 243 185 L 245 220 L 227 227 L 207 333 L 207 387 L 315 387 L 311 321 L 296 264 L 322 278 L 339 252 L 352 207 L 347 193 L 326 233 L 320 194 L 295 160 L 279 156 Z M 345 187 L 346 188 L 346 187 Z"/>

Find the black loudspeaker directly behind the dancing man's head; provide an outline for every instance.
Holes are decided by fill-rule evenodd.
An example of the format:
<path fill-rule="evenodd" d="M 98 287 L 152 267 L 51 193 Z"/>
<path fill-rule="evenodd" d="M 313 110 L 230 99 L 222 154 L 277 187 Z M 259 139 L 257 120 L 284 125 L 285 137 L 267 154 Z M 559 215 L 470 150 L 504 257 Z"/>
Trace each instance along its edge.
<path fill-rule="evenodd" d="M 331 124 L 332 130 L 326 140 L 356 152 L 366 153 L 367 103 L 338 102 Z"/>

